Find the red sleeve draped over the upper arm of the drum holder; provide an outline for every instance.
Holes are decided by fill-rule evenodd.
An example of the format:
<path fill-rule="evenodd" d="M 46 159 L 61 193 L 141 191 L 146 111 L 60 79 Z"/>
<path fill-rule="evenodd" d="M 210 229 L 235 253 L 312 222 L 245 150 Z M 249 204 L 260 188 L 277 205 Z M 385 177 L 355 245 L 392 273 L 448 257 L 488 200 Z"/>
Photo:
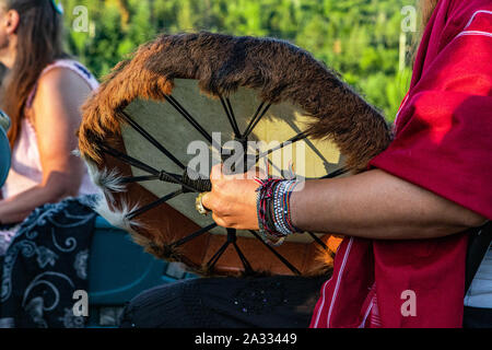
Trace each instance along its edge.
<path fill-rule="evenodd" d="M 424 68 L 371 165 L 492 219 L 492 13 Z"/>

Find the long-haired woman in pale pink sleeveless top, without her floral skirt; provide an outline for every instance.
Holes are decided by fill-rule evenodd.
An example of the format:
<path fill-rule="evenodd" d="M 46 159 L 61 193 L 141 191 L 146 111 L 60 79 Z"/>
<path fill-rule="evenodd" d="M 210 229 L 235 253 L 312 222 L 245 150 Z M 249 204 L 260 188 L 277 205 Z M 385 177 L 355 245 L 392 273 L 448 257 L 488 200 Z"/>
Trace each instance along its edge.
<path fill-rule="evenodd" d="M 94 192 L 77 149 L 80 106 L 97 86 L 62 49 L 62 19 L 50 0 L 0 0 L 0 61 L 10 70 L 1 106 L 12 126 L 12 168 L 1 189 L 0 223 L 37 207 Z M 0 233 L 4 253 L 16 230 Z"/>

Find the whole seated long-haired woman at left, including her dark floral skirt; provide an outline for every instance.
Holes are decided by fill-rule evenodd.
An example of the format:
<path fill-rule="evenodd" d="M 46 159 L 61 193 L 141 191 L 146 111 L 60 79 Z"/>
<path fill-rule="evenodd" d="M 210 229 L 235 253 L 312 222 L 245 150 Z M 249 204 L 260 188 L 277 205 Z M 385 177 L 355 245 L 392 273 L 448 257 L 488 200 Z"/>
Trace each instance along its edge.
<path fill-rule="evenodd" d="M 72 152 L 79 109 L 97 81 L 63 51 L 54 0 L 0 0 L 0 61 L 9 69 L 0 104 L 12 121 L 0 200 L 0 327 L 83 326 L 72 295 L 87 289 L 95 213 L 90 197 L 63 199 L 95 192 Z"/>

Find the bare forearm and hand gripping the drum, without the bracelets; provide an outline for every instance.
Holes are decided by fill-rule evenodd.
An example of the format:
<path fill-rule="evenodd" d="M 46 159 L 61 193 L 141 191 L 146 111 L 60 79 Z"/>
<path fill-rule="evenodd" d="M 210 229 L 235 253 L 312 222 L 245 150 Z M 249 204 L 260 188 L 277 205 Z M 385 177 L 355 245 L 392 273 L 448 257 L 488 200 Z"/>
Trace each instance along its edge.
<path fill-rule="evenodd" d="M 254 180 L 219 176 L 203 205 L 221 226 L 258 230 Z M 487 220 L 379 170 L 339 178 L 313 180 L 291 198 L 294 225 L 374 240 L 436 238 L 480 226 Z"/>

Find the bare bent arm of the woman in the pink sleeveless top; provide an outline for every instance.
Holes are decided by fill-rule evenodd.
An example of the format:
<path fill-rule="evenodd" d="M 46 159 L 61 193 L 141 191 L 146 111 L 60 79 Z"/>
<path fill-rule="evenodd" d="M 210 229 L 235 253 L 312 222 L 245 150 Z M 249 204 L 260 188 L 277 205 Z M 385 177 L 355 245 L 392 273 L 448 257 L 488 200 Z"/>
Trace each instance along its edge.
<path fill-rule="evenodd" d="M 23 221 L 35 208 L 78 194 L 85 167 L 71 152 L 77 149 L 79 109 L 90 91 L 78 74 L 67 69 L 54 69 L 39 80 L 33 108 L 43 182 L 0 201 L 2 223 Z"/>

